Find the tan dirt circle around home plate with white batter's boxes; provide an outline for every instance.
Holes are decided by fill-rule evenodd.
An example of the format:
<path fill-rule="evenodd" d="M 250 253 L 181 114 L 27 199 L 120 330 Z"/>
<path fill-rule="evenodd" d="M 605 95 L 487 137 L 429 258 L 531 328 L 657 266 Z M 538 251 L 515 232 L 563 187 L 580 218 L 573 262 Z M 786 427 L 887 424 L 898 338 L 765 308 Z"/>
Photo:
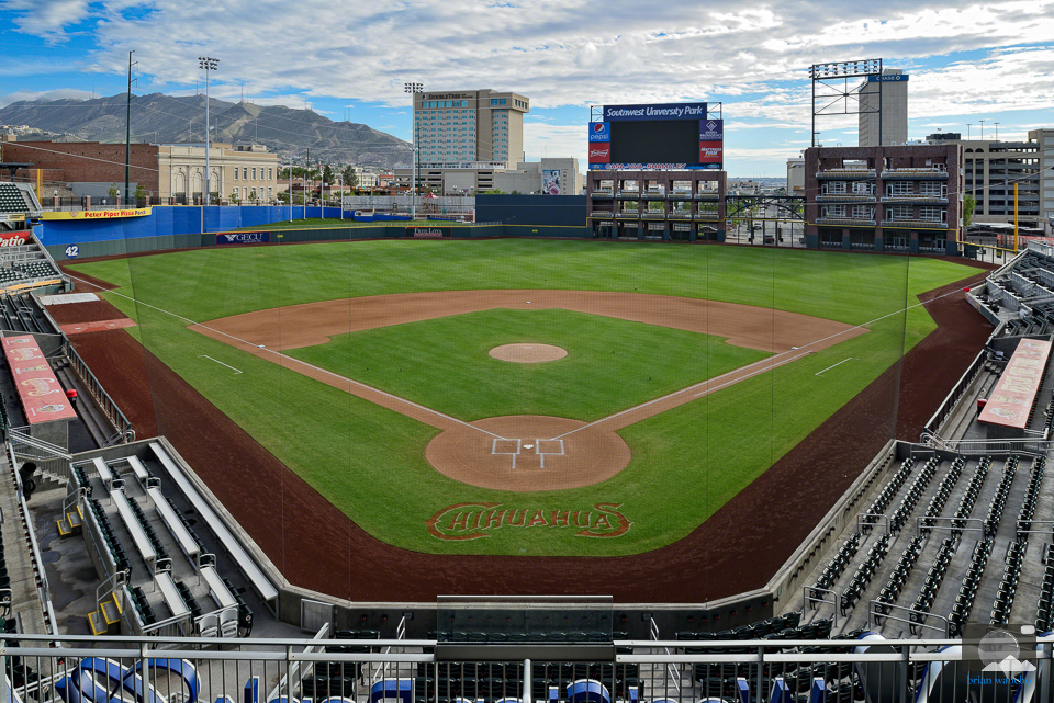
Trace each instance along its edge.
<path fill-rule="evenodd" d="M 603 426 L 537 415 L 476 420 L 437 434 L 428 463 L 464 484 L 496 490 L 591 486 L 629 464 L 629 445 Z"/>

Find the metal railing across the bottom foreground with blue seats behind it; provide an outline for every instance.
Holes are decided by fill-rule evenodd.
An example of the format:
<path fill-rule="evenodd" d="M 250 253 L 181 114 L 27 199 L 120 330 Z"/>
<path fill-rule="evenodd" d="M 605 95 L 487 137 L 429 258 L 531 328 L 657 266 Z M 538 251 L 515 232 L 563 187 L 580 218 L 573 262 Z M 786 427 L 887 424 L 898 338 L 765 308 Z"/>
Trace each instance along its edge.
<path fill-rule="evenodd" d="M 436 640 L 243 639 L 213 649 L 208 638 L 67 636 L 57 647 L 63 643 L 51 637 L 19 639 L 0 650 L 0 687 L 11 687 L 0 696 L 46 701 L 58 693 L 68 703 L 1047 703 L 1054 642 L 1029 643 L 1020 671 L 1007 677 L 971 669 L 958 640 L 877 636 L 616 640 L 604 656 L 595 647 L 576 656 L 574 646 L 494 645 L 467 659 L 448 658 Z"/>

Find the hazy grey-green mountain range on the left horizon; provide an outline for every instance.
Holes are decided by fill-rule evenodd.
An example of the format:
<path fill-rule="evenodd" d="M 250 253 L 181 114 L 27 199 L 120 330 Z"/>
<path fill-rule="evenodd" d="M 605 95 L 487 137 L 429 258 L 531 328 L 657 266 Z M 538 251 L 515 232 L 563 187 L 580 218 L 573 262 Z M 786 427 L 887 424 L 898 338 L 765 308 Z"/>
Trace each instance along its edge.
<path fill-rule="evenodd" d="M 0 124 L 29 125 L 55 141 L 123 144 L 126 111 L 126 93 L 92 100 L 20 101 L 0 109 Z M 209 113 L 214 143 L 262 144 L 280 160 L 303 159 L 309 149 L 313 162 L 391 169 L 412 160 L 408 141 L 365 124 L 334 122 L 311 110 L 211 98 Z M 131 136 L 133 143 L 203 144 L 205 97 L 133 95 Z M 33 138 L 19 135 L 20 140 Z"/>

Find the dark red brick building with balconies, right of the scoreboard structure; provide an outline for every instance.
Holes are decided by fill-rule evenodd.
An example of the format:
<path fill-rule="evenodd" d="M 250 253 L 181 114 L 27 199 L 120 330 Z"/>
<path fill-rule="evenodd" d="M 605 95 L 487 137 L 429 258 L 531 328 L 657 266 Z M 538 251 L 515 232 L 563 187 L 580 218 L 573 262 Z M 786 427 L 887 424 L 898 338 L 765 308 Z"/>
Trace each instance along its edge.
<path fill-rule="evenodd" d="M 957 253 L 962 163 L 957 144 L 807 149 L 808 246 Z"/>

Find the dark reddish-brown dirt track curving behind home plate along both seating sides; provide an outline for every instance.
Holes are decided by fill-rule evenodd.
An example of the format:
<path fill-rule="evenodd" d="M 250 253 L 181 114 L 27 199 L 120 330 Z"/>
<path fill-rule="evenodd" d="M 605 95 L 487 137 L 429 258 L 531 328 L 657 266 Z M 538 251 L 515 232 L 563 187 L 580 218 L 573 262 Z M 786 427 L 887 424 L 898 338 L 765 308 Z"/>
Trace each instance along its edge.
<path fill-rule="evenodd" d="M 991 332 L 962 293 L 940 294 L 980 275 L 932 292 L 927 308 L 939 328 L 685 538 L 627 557 L 548 557 L 543 567 L 538 557 L 437 556 L 386 545 L 124 330 L 71 339 L 137 435 L 167 435 L 296 586 L 362 602 L 579 593 L 696 603 L 764 586 L 894 431 L 917 439 Z"/>

